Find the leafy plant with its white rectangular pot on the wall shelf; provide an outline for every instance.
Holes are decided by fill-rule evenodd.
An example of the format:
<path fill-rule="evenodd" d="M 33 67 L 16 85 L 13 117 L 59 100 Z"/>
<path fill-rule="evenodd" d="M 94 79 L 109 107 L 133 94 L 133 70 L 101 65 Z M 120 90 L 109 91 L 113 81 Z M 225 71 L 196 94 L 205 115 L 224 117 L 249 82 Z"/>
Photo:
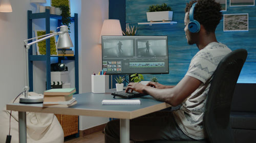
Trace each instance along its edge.
<path fill-rule="evenodd" d="M 172 21 L 172 8 L 165 3 L 162 5 L 151 5 L 146 13 L 147 21 Z"/>

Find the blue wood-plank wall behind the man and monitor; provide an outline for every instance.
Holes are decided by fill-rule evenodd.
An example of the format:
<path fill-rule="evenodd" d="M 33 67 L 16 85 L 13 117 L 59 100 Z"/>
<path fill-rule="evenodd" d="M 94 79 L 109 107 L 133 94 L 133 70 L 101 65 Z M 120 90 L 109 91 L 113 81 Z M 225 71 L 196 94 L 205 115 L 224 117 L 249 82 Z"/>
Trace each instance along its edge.
<path fill-rule="evenodd" d="M 150 80 L 153 76 L 158 77 L 162 84 L 177 84 L 185 75 L 191 58 L 198 52 L 196 45 L 188 45 L 184 33 L 184 9 L 189 1 L 167 1 L 167 0 L 126 0 L 126 23 L 138 26 L 137 36 L 168 36 L 169 51 L 169 74 L 151 75 L 144 74 L 145 80 Z M 138 25 L 138 22 L 147 22 L 146 12 L 148 7 L 153 4 L 166 3 L 172 7 L 174 12 L 173 21 L 177 24 L 160 25 Z M 238 82 L 256 83 L 256 8 L 229 7 L 227 0 L 227 11 L 223 14 L 249 14 L 248 32 L 223 32 L 223 20 L 217 27 L 217 40 L 226 44 L 231 50 L 245 48 L 248 51 L 247 61 L 241 71 Z"/>

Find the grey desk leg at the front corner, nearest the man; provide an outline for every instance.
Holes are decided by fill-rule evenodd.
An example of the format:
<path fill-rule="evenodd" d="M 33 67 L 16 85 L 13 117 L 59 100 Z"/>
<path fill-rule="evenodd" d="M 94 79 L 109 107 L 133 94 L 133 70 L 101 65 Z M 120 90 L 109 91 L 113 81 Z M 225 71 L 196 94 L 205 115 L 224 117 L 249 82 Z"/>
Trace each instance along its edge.
<path fill-rule="evenodd" d="M 120 119 L 120 142 L 129 143 L 130 142 L 130 120 Z"/>

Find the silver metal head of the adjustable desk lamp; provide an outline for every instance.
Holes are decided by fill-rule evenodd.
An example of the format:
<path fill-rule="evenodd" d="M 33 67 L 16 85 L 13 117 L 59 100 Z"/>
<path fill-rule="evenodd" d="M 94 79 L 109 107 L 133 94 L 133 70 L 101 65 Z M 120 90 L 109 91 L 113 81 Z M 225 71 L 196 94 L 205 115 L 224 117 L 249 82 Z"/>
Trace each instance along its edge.
<path fill-rule="evenodd" d="M 62 25 L 60 26 L 60 32 L 65 32 L 64 34 L 60 34 L 57 42 L 57 48 L 70 48 L 74 47 L 69 36 L 69 28 L 68 26 Z"/>

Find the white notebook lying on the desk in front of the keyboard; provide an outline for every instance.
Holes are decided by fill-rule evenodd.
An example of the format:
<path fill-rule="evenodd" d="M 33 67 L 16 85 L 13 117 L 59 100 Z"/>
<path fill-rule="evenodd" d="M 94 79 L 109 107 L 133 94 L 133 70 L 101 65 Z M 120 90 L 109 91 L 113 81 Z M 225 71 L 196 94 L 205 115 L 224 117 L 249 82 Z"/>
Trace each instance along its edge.
<path fill-rule="evenodd" d="M 102 105 L 140 105 L 140 100 L 102 100 Z"/>

